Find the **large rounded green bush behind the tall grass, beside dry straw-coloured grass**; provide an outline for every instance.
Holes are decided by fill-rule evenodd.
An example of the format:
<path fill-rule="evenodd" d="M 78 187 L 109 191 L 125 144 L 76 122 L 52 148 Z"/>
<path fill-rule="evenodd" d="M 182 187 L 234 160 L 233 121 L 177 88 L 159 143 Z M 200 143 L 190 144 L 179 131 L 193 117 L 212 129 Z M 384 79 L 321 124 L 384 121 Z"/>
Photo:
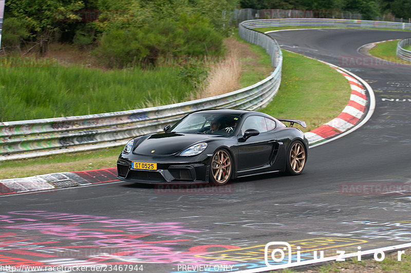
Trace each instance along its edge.
<path fill-rule="evenodd" d="M 147 26 L 111 28 L 102 35 L 96 54 L 108 67 L 138 63 L 156 65 L 159 56 L 204 56 L 222 53 L 223 37 L 201 15 L 181 14 L 178 21 L 163 19 Z"/>

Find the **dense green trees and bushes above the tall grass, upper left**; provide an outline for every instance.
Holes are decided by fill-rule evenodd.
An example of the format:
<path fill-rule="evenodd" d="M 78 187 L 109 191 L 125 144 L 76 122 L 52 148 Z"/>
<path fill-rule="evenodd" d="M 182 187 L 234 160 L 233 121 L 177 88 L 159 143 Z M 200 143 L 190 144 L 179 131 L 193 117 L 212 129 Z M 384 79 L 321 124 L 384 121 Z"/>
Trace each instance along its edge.
<path fill-rule="evenodd" d="M 50 41 L 94 44 L 108 67 L 222 52 L 238 0 L 8 0 L 3 49 L 45 53 Z"/>

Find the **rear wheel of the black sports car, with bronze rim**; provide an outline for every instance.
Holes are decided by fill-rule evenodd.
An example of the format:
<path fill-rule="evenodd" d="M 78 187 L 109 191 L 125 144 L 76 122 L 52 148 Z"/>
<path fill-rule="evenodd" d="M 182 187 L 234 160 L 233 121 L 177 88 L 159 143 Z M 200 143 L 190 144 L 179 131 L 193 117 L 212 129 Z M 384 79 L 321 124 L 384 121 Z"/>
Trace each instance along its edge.
<path fill-rule="evenodd" d="M 301 174 L 307 159 L 307 151 L 303 142 L 295 140 L 290 144 L 287 152 L 286 173 L 289 175 Z"/>

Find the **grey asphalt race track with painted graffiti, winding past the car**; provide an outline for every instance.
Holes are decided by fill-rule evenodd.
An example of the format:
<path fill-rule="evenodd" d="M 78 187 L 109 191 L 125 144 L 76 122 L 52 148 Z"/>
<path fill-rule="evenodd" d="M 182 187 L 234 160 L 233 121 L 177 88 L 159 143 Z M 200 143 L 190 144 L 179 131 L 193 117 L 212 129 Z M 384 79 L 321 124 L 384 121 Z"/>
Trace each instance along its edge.
<path fill-rule="evenodd" d="M 252 271 L 266 266 L 264 247 L 273 241 L 292 244 L 294 254 L 300 246 L 301 260 L 313 259 L 314 250 L 332 256 L 410 243 L 411 66 L 377 62 L 357 50 L 411 32 L 271 35 L 284 49 L 366 80 L 376 94 L 371 119 L 310 149 L 296 177 L 261 175 L 200 189 L 114 182 L 2 196 L 0 271 L 23 264 L 72 266 L 72 272 L 92 269 L 75 267 L 81 265 L 108 272 Z"/>

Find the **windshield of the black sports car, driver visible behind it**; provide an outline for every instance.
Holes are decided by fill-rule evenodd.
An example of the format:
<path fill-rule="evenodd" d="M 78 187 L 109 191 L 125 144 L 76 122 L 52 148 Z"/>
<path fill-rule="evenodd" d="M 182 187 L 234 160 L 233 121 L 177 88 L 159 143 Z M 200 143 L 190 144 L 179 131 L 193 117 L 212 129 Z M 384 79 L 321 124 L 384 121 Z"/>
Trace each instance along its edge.
<path fill-rule="evenodd" d="M 194 113 L 175 124 L 170 132 L 230 136 L 239 121 L 235 115 Z"/>

